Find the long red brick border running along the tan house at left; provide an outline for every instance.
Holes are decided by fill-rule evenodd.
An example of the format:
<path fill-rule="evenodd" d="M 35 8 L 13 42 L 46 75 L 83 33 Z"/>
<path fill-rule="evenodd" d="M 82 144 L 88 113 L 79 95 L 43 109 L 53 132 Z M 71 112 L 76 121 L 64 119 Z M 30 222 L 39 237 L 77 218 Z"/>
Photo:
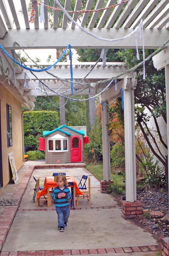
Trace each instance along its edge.
<path fill-rule="evenodd" d="M 2 214 L 0 215 L 0 251 L 2 249 L 3 243 L 5 242 L 8 231 L 12 225 L 20 202 L 24 196 L 25 190 L 27 188 L 33 171 L 34 166 L 29 166 L 11 197 L 11 199 L 19 199 L 18 204 L 16 206 L 6 206 Z"/>

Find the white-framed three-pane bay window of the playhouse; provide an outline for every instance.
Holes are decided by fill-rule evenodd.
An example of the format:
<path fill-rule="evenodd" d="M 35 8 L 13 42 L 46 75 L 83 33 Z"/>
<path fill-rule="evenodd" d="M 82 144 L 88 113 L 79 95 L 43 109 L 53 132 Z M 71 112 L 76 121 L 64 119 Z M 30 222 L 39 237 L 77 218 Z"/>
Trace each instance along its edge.
<path fill-rule="evenodd" d="M 48 140 L 49 152 L 65 152 L 68 151 L 68 139 L 49 139 Z"/>

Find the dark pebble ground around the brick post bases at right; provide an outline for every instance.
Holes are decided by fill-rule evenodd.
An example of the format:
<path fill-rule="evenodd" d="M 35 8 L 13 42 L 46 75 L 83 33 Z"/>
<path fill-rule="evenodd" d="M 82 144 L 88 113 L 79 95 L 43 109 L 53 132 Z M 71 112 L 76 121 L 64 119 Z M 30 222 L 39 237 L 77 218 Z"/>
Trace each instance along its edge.
<path fill-rule="evenodd" d="M 116 196 L 115 200 L 117 204 L 121 206 L 122 197 Z M 147 229 L 152 233 L 157 240 L 160 240 L 161 237 L 169 236 L 169 203 L 168 203 L 168 194 L 165 188 L 156 190 L 156 189 L 147 189 L 142 191 L 137 191 L 137 200 L 142 202 L 142 209 L 153 211 L 160 211 L 162 216 L 151 216 L 149 214 L 144 214 L 136 217 L 133 221 Z"/>

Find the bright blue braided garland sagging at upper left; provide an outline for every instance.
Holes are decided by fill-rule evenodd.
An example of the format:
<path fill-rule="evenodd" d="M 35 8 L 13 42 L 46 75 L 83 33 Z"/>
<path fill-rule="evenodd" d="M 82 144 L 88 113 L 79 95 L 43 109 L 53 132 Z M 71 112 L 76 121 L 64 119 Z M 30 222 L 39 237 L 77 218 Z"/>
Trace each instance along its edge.
<path fill-rule="evenodd" d="M 51 66 L 49 66 L 49 67 L 47 67 L 47 68 L 45 68 L 45 69 L 40 69 L 40 70 L 31 69 L 31 68 L 28 68 L 28 67 L 22 65 L 22 64 L 19 63 L 16 59 L 14 59 L 13 57 L 11 57 L 11 56 L 9 55 L 9 53 L 2 47 L 1 44 L 0 44 L 0 48 L 3 50 L 3 52 L 4 52 L 9 58 L 11 58 L 11 59 L 12 59 L 15 63 L 17 63 L 20 67 L 22 67 L 22 68 L 24 68 L 24 69 L 27 69 L 27 70 L 29 70 L 29 71 L 33 71 L 33 72 L 43 72 L 43 71 L 49 70 L 49 69 L 51 69 L 52 67 L 54 67 L 54 66 L 62 59 L 62 57 L 65 55 L 67 49 L 68 49 L 68 48 L 71 48 L 71 45 L 68 44 L 66 50 L 63 52 L 63 54 L 60 56 L 60 58 L 59 58 L 53 65 L 51 65 Z M 72 79 L 72 77 L 71 77 L 71 79 Z M 73 79 L 72 79 L 72 81 L 73 81 Z"/>

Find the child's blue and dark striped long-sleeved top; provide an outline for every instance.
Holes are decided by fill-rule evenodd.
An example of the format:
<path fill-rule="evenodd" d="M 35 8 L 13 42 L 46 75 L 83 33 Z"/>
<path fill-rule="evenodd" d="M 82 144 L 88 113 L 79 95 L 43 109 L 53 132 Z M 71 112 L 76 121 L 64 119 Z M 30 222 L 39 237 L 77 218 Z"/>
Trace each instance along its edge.
<path fill-rule="evenodd" d="M 59 193 L 65 193 L 65 197 L 62 198 L 58 198 L 58 194 Z M 70 189 L 65 186 L 63 189 L 60 189 L 58 186 L 54 187 L 52 193 L 51 193 L 51 197 L 54 200 L 54 205 L 56 207 L 62 207 L 62 206 L 67 206 L 69 205 L 69 199 L 71 199 L 72 195 L 71 195 L 71 191 Z"/>

